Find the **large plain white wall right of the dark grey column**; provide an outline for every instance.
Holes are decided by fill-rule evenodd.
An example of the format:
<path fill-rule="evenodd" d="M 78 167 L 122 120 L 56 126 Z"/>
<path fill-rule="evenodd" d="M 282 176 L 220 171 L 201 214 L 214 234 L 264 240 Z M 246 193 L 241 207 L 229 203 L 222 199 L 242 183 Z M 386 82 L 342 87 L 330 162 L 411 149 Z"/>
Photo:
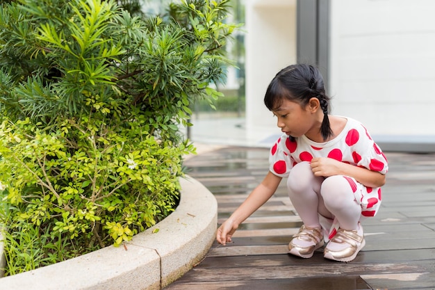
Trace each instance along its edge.
<path fill-rule="evenodd" d="M 331 0 L 333 113 L 372 135 L 435 136 L 435 1 Z"/>

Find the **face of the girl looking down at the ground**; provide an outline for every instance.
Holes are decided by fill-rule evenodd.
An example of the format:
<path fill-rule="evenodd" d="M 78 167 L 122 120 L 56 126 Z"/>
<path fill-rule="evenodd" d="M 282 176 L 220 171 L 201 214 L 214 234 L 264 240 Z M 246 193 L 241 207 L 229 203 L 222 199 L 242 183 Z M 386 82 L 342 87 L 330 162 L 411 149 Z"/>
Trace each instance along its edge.
<path fill-rule="evenodd" d="M 272 111 L 277 117 L 277 126 L 285 134 L 300 137 L 310 134 L 319 134 L 322 119 L 318 117 L 319 104 L 317 99 L 311 98 L 309 104 L 302 107 L 296 102 L 283 99 L 281 106 Z"/>

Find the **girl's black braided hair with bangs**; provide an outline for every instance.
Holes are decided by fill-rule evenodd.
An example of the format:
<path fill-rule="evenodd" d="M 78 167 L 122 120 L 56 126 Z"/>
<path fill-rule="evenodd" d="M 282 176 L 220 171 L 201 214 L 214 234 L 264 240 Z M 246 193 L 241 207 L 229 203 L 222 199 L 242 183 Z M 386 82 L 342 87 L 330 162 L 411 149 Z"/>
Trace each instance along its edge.
<path fill-rule="evenodd" d="M 318 98 L 324 113 L 320 133 L 323 140 L 327 140 L 333 134 L 328 118 L 331 98 L 326 95 L 322 74 L 313 65 L 289 65 L 279 71 L 266 90 L 264 104 L 270 111 L 274 111 L 281 106 L 283 99 L 288 99 L 305 108 L 312 97 Z"/>

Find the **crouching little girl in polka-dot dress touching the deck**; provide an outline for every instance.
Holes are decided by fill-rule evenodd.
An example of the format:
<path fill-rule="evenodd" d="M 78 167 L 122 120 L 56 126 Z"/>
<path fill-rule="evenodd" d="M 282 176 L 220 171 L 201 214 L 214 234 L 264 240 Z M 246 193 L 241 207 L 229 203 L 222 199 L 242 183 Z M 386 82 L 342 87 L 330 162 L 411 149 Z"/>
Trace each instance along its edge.
<path fill-rule="evenodd" d="M 360 220 L 377 213 L 388 164 L 360 122 L 328 115 L 329 99 L 312 65 L 290 65 L 274 76 L 264 102 L 284 134 L 270 150 L 268 175 L 217 229 L 217 242 L 230 242 L 240 223 L 287 177 L 288 195 L 303 223 L 289 253 L 310 258 L 327 243 L 327 259 L 356 257 L 366 244 Z"/>

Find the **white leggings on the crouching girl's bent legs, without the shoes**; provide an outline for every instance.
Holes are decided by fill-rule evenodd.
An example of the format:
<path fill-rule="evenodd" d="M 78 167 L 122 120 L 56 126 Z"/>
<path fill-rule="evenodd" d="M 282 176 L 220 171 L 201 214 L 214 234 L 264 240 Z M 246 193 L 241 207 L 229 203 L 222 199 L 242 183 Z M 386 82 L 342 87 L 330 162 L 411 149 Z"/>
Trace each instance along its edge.
<path fill-rule="evenodd" d="M 343 175 L 315 177 L 309 162 L 297 163 L 287 181 L 288 195 L 307 227 L 319 227 L 319 214 L 338 220 L 342 229 L 358 228 L 361 205 Z"/>

